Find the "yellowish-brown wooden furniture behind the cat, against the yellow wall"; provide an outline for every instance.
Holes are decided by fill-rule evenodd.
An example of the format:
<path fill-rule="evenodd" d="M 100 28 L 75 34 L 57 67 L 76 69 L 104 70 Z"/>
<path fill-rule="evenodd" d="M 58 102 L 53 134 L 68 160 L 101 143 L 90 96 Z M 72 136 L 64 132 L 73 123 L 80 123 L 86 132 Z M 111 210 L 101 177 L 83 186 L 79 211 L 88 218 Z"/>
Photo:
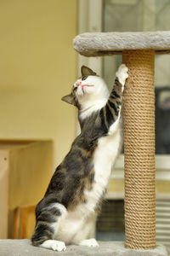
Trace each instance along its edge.
<path fill-rule="evenodd" d="M 52 171 L 52 141 L 0 140 L 0 238 L 30 238 Z"/>

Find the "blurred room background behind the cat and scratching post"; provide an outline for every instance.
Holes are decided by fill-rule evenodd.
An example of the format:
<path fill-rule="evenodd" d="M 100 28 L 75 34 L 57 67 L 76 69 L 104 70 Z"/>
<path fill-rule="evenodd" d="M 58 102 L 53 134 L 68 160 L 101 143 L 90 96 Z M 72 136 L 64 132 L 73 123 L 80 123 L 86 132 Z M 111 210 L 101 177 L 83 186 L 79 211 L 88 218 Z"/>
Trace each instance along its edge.
<path fill-rule="evenodd" d="M 77 136 L 77 112 L 60 98 L 87 65 L 110 90 L 121 56 L 86 58 L 82 32 L 170 30 L 170 0 L 0 1 L 1 238 L 26 238 L 54 167 Z M 170 245 L 170 55 L 156 55 L 156 239 Z M 123 152 L 112 172 L 97 239 L 124 239 Z M 5 209 L 5 210 L 4 210 Z M 1 226 L 2 226 L 1 224 Z M 12 228 L 11 228 L 12 227 Z"/>

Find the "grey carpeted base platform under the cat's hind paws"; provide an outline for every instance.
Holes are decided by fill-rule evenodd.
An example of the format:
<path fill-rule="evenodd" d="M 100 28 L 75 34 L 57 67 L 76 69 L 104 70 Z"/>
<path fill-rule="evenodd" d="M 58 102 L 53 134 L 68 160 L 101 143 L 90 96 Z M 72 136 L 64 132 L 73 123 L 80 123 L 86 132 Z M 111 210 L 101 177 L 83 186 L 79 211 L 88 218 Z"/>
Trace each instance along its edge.
<path fill-rule="evenodd" d="M 124 247 L 122 241 L 100 241 L 99 247 L 68 246 L 65 252 L 54 252 L 41 247 L 33 247 L 31 241 L 0 240 L 1 256 L 167 256 L 165 247 L 154 250 L 131 250 Z"/>

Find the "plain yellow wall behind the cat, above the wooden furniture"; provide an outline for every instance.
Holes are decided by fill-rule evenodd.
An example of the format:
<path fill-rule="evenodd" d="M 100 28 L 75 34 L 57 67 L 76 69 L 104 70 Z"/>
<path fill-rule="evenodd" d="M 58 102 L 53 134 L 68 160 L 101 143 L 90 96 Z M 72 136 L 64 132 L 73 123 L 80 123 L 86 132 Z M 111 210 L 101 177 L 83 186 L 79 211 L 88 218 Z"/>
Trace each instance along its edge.
<path fill-rule="evenodd" d="M 0 2 L 0 138 L 51 138 L 55 165 L 76 136 L 76 34 L 77 0 Z"/>

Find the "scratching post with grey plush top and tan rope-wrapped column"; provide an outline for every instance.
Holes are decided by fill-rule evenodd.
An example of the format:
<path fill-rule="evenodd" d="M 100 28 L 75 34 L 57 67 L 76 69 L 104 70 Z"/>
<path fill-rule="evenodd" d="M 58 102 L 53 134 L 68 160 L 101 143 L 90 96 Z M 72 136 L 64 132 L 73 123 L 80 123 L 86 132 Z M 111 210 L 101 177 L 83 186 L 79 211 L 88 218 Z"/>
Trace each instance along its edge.
<path fill-rule="evenodd" d="M 74 48 L 85 56 L 122 55 L 129 69 L 123 96 L 127 249 L 122 255 L 129 249 L 129 255 L 156 255 L 154 62 L 155 54 L 170 53 L 170 32 L 83 33 Z"/>

